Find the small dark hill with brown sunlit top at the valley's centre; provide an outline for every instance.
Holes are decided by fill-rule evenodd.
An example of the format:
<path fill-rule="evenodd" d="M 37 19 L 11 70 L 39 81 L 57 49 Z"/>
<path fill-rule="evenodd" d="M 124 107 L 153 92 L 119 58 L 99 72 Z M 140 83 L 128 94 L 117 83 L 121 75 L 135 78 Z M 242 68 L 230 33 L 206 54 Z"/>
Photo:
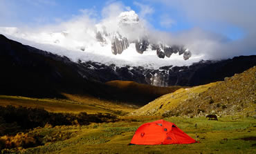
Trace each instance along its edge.
<path fill-rule="evenodd" d="M 110 86 L 109 91 L 111 91 L 111 95 L 113 95 L 117 100 L 122 100 L 123 102 L 134 102 L 133 104 L 138 104 L 140 106 L 151 102 L 161 95 L 173 93 L 179 88 L 184 88 L 182 86 L 150 86 L 147 84 L 138 84 L 134 81 L 119 80 L 108 81 L 106 84 Z"/>

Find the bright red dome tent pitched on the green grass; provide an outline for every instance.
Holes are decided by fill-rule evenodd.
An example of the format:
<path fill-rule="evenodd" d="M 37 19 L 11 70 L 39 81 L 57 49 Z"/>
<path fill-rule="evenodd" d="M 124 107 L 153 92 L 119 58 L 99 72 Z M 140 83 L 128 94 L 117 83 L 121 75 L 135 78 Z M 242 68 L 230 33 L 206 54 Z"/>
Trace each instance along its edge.
<path fill-rule="evenodd" d="M 196 140 L 185 134 L 172 122 L 161 119 L 141 125 L 130 144 L 192 144 Z"/>

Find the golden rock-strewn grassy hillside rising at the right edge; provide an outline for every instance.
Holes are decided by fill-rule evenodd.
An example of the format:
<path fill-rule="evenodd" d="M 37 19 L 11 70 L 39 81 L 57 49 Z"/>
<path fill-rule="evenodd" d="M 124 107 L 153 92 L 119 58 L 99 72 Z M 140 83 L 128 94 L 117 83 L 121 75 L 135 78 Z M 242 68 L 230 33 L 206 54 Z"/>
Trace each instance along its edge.
<path fill-rule="evenodd" d="M 163 95 L 130 115 L 204 116 L 255 115 L 256 67 L 244 73 Z"/>

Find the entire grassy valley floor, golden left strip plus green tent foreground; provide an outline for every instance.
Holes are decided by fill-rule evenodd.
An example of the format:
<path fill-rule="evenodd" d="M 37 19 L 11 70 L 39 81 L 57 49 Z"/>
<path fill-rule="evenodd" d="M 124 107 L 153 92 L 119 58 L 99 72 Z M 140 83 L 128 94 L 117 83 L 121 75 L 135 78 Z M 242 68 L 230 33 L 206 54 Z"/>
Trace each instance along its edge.
<path fill-rule="evenodd" d="M 254 117 L 226 116 L 219 117 L 219 121 L 205 117 L 165 117 L 199 143 L 129 146 L 127 144 L 141 124 L 163 117 L 127 116 L 126 113 L 137 107 L 93 97 L 68 94 L 66 97 L 68 99 L 34 99 L 2 95 L 0 104 L 44 108 L 50 113 L 108 113 L 117 119 L 86 125 L 74 122 L 52 126 L 47 123 L 17 135 L 4 135 L 0 137 L 1 153 L 256 153 Z"/>

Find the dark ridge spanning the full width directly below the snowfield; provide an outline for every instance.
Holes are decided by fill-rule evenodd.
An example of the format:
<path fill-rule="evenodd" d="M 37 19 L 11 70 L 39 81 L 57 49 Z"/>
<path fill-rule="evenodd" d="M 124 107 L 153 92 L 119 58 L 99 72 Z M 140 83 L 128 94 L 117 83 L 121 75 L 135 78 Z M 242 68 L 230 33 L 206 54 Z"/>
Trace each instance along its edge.
<path fill-rule="evenodd" d="M 92 61 L 75 63 L 67 57 L 25 46 L 3 35 L 0 35 L 0 48 L 1 94 L 30 94 L 34 97 L 63 97 L 61 91 L 124 99 L 114 97 L 111 90 L 113 92 L 116 89 L 104 83 L 122 80 L 153 86 L 194 86 L 240 73 L 255 66 L 256 61 L 256 56 L 253 55 L 224 61 L 201 61 L 192 66 L 165 66 L 154 70 L 143 67 L 118 67 L 114 64 L 107 66 Z M 145 103 L 147 102 L 143 102 Z"/>

